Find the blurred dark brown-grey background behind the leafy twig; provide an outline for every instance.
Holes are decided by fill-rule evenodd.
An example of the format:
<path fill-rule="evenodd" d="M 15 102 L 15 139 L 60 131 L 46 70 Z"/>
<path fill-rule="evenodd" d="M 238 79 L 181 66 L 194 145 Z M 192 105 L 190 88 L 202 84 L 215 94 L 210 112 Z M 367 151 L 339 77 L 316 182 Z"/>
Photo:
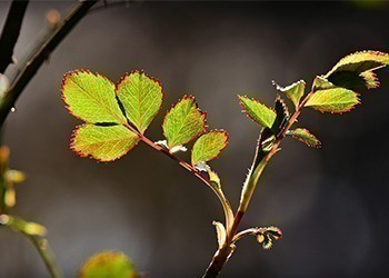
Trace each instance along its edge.
<path fill-rule="evenodd" d="M 0 2 L 1 24 L 9 4 Z M 32 2 L 16 57 L 40 36 L 48 10 L 66 12 L 73 4 Z M 237 207 L 258 135 L 237 93 L 271 105 L 271 80 L 310 83 L 347 53 L 388 52 L 388 12 L 379 1 L 137 2 L 90 12 L 8 118 L 11 166 L 28 175 L 14 214 L 49 229 L 67 277 L 101 249 L 124 251 L 147 277 L 200 277 L 217 248 L 217 198 L 143 145 L 113 163 L 77 157 L 69 139 L 80 121 L 63 107 L 62 75 L 87 68 L 118 81 L 144 69 L 161 80 L 163 112 L 147 132 L 153 140 L 162 139 L 170 105 L 194 93 L 209 126 L 230 132 L 230 145 L 211 165 Z M 389 71 L 380 76 L 382 87 L 363 92 L 362 106 L 350 113 L 305 111 L 300 126 L 320 138 L 322 149 L 286 140 L 241 225 L 276 225 L 285 237 L 271 250 L 253 238 L 241 240 L 221 277 L 389 277 Z M 30 242 L 4 228 L 0 277 L 48 277 Z"/>

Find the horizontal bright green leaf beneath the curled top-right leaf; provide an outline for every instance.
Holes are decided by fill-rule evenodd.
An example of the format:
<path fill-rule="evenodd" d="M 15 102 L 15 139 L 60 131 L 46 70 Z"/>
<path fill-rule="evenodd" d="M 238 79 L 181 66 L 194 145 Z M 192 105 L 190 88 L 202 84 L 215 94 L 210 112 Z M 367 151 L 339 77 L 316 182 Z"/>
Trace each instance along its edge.
<path fill-rule="evenodd" d="M 345 88 L 332 88 L 316 91 L 305 107 L 320 112 L 341 113 L 350 111 L 358 103 L 358 93 Z"/>

